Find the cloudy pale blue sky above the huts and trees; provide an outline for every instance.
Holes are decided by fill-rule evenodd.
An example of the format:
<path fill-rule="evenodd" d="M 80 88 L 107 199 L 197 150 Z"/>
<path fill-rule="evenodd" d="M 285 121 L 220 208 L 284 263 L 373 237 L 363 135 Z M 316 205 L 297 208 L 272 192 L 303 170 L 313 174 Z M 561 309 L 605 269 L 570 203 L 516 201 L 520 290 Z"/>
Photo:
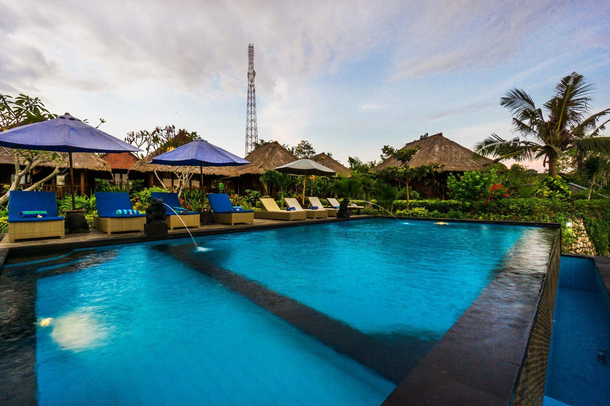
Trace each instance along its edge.
<path fill-rule="evenodd" d="M 501 96 L 542 105 L 572 71 L 597 85 L 592 111 L 610 107 L 609 1 L 0 0 L 0 93 L 243 156 L 249 43 L 259 140 L 345 165 L 426 132 L 510 137 Z"/>

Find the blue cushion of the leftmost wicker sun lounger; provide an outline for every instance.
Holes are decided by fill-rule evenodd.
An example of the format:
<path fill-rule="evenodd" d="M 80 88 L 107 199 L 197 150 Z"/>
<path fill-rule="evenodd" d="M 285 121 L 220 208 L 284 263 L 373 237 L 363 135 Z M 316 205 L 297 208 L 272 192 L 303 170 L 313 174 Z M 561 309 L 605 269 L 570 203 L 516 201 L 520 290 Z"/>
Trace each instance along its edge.
<path fill-rule="evenodd" d="M 46 212 L 46 217 L 21 218 L 20 212 Z M 13 190 L 9 194 L 9 223 L 63 220 L 57 216 L 57 199 L 53 192 Z"/>

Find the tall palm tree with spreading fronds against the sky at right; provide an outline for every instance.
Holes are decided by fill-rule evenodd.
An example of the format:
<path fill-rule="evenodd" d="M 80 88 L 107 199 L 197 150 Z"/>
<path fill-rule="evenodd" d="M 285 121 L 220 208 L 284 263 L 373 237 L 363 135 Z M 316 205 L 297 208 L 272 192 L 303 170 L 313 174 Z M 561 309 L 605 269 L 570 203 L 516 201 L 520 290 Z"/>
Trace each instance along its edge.
<path fill-rule="evenodd" d="M 576 148 L 583 154 L 608 154 L 610 137 L 598 135 L 610 119 L 599 126 L 598 121 L 608 115 L 610 109 L 587 116 L 594 101 L 590 96 L 594 88 L 583 75 L 572 72 L 556 85 L 555 95 L 544 104 L 544 112 L 525 91 L 509 90 L 500 99 L 500 105 L 511 110 L 513 132 L 519 136 L 504 140 L 492 134 L 475 144 L 475 151 L 497 160 L 544 158 L 543 165 L 548 163 L 551 177 L 557 177 L 557 160 L 565 151 Z"/>

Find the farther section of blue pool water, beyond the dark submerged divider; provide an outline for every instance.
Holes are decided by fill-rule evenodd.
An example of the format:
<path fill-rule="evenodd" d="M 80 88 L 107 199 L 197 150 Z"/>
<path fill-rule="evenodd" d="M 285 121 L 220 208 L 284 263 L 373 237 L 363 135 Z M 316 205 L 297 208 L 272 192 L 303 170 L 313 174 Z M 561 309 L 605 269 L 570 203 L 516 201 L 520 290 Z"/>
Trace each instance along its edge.
<path fill-rule="evenodd" d="M 202 260 L 367 333 L 437 340 L 519 238 L 540 229 L 390 219 L 200 239 Z"/>

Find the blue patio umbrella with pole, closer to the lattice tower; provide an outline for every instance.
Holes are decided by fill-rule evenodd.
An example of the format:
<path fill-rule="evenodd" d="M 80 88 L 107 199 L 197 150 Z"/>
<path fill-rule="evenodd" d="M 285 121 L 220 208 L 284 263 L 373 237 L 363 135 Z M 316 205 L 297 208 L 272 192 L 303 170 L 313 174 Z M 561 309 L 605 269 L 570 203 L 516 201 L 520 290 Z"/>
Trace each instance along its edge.
<path fill-rule="evenodd" d="M 199 185 L 201 186 L 201 198 L 203 199 L 204 166 L 240 166 L 250 162 L 199 137 L 195 141 L 152 158 L 148 163 L 170 166 L 199 165 L 199 182 L 201 182 Z"/>

